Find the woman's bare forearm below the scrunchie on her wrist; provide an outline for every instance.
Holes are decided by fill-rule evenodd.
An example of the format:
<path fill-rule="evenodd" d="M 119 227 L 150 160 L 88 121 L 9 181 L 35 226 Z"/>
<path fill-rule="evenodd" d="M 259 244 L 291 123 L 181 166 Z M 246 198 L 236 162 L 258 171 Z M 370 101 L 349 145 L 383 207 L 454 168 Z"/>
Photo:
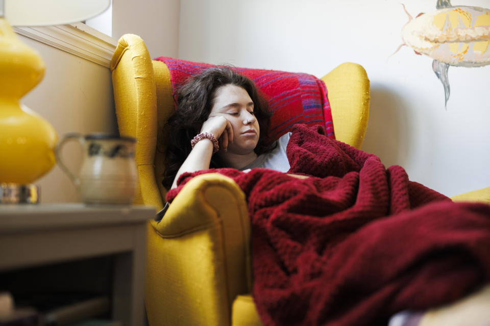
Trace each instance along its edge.
<path fill-rule="evenodd" d="M 195 144 L 179 171 L 177 171 L 177 175 L 175 176 L 174 183 L 172 183 L 171 188 L 173 189 L 177 187 L 177 180 L 182 173 L 209 169 L 212 154 L 213 142 L 210 139 L 203 139 Z"/>

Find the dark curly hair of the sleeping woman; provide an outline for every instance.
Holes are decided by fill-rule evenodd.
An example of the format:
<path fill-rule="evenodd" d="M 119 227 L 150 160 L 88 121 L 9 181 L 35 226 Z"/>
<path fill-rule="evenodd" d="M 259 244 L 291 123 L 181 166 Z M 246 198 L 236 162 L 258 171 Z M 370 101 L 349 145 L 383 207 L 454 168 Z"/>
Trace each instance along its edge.
<path fill-rule="evenodd" d="M 177 110 L 165 125 L 168 143 L 165 150 L 165 173 L 162 184 L 167 189 L 172 185 L 178 170 L 192 149 L 190 140 L 201 131 L 203 123 L 208 119 L 216 90 L 229 84 L 242 87 L 254 102 L 254 115 L 260 128 L 255 153 L 260 155 L 275 147 L 276 144 L 269 140 L 267 134 L 272 113 L 268 111 L 267 101 L 259 94 L 254 82 L 228 66 L 208 68 L 189 77 L 179 88 Z M 210 168 L 225 167 L 218 155 L 212 156 Z"/>

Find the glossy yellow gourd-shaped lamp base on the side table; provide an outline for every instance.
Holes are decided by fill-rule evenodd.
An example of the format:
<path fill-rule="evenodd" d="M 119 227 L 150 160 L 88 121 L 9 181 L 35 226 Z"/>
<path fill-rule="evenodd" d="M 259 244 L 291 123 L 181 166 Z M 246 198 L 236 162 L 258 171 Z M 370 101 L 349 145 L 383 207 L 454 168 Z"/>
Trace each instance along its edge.
<path fill-rule="evenodd" d="M 45 65 L 0 18 L 0 182 L 29 184 L 55 165 L 55 129 L 20 98 L 35 87 Z"/>

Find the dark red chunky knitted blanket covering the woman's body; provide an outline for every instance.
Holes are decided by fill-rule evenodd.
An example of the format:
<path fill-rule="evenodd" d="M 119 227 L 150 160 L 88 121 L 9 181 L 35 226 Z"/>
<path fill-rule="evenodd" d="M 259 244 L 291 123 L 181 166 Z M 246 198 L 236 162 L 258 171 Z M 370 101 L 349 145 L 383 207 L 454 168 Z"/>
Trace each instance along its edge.
<path fill-rule="evenodd" d="M 490 206 L 453 203 L 399 166 L 297 125 L 291 173 L 218 169 L 247 197 L 253 297 L 265 325 L 381 325 L 490 279 Z"/>

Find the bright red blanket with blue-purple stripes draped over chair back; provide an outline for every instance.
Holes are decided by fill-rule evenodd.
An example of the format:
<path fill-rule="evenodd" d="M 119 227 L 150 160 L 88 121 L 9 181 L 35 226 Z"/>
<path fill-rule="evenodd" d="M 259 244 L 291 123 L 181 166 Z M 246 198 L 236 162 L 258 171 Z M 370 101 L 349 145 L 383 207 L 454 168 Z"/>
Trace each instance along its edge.
<path fill-rule="evenodd" d="M 213 66 L 168 57 L 159 57 L 155 60 L 164 62 L 168 67 L 174 95 L 189 76 Z M 284 133 L 291 131 L 296 123 L 305 123 L 309 126 L 320 124 L 329 137 L 335 139 L 327 88 L 323 80 L 306 73 L 233 69 L 252 79 L 267 99 L 269 109 L 274 113 L 270 127 L 273 139 L 278 139 Z"/>

